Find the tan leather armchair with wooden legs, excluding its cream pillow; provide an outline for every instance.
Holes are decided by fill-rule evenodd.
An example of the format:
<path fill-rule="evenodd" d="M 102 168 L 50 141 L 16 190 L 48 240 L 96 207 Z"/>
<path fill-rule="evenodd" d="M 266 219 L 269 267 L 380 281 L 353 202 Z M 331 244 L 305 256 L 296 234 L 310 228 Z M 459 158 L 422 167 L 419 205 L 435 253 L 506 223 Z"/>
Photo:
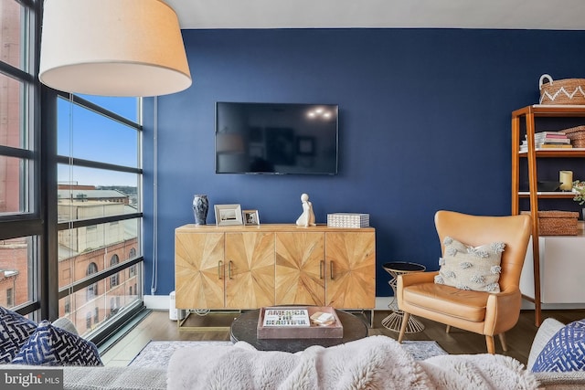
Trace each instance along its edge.
<path fill-rule="evenodd" d="M 410 314 L 438 321 L 485 335 L 487 352 L 495 353 L 494 336 L 499 335 L 507 351 L 504 334 L 516 325 L 522 296 L 520 274 L 527 253 L 531 232 L 530 216 L 469 216 L 452 211 L 438 211 L 435 226 L 441 240 L 453 237 L 467 245 L 478 247 L 492 242 L 504 242 L 500 292 L 459 290 L 445 284 L 435 284 L 439 272 L 418 272 L 400 275 L 397 285 L 399 309 L 404 311 L 399 343 L 404 338 Z"/>

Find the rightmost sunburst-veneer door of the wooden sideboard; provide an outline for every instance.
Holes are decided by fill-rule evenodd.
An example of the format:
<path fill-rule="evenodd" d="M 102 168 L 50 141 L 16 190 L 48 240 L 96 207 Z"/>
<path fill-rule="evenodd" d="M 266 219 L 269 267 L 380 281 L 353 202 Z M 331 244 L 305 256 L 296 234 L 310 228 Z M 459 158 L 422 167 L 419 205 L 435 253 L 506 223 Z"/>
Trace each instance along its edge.
<path fill-rule="evenodd" d="M 376 237 L 374 232 L 325 234 L 326 305 L 376 307 Z"/>

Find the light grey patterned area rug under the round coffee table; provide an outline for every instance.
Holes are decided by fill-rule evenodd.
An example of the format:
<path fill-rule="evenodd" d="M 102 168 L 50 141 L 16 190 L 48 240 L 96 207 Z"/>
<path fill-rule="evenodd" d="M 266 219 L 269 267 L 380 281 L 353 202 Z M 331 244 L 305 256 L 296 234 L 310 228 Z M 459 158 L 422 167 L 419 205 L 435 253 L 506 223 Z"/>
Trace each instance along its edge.
<path fill-rule="evenodd" d="M 180 348 L 190 347 L 197 348 L 209 345 L 232 345 L 231 342 L 150 342 L 146 344 L 144 349 L 134 357 L 130 364 L 133 367 L 152 367 L 165 368 L 168 362 Z M 446 353 L 437 342 L 420 342 L 420 341 L 404 341 L 402 342 L 404 349 L 406 349 L 415 360 L 424 360 L 432 356 L 439 356 Z"/>

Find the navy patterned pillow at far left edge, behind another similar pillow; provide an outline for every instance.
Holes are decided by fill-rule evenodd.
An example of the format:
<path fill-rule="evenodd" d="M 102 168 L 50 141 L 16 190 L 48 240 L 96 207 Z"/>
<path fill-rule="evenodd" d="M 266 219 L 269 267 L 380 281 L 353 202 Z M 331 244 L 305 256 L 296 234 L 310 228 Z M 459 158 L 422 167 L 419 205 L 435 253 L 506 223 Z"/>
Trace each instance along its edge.
<path fill-rule="evenodd" d="M 0 364 L 12 362 L 35 329 L 34 321 L 0 306 Z"/>

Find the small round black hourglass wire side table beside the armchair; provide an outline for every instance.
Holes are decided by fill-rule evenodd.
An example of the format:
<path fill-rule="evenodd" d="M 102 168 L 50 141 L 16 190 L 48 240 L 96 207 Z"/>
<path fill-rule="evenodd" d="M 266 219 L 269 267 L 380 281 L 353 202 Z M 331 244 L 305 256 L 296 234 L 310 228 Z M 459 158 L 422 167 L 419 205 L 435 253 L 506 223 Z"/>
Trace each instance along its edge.
<path fill-rule="evenodd" d="M 392 312 L 388 314 L 386 318 L 382 320 L 382 326 L 390 331 L 400 332 L 400 326 L 402 325 L 402 318 L 404 318 L 404 311 L 399 310 L 398 302 L 396 300 L 396 284 L 398 282 L 399 275 L 412 273 L 412 272 L 424 272 L 426 267 L 417 264 L 411 263 L 408 261 L 394 261 L 390 263 L 386 263 L 382 266 L 388 274 L 392 277 L 392 279 L 388 280 L 388 284 L 394 291 L 394 297 L 388 303 L 388 309 Z M 407 333 L 416 333 L 422 332 L 424 330 L 424 325 L 414 316 L 409 317 L 409 322 L 406 326 Z"/>

